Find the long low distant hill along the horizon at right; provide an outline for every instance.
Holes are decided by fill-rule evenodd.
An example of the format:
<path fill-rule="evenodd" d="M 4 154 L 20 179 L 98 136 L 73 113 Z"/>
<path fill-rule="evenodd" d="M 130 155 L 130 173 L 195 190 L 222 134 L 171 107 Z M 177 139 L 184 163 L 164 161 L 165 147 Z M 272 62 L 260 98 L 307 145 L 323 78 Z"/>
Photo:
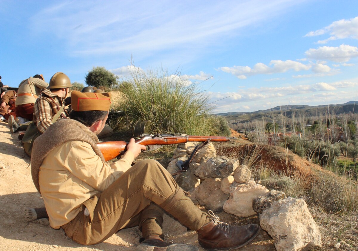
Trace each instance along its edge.
<path fill-rule="evenodd" d="M 328 114 L 330 114 L 330 116 L 337 116 L 340 114 L 358 113 L 358 101 L 349 101 L 344 104 L 335 105 L 284 105 L 255 112 L 230 112 L 217 113 L 215 115 L 223 116 L 228 121 L 240 120 L 242 122 L 247 122 L 247 120 L 252 121 L 262 117 L 273 118 L 277 116 L 285 116 L 286 118 L 292 118 L 293 113 L 295 113 L 295 117 L 303 114 L 305 117 L 314 117 L 319 114 L 324 116 Z"/>

